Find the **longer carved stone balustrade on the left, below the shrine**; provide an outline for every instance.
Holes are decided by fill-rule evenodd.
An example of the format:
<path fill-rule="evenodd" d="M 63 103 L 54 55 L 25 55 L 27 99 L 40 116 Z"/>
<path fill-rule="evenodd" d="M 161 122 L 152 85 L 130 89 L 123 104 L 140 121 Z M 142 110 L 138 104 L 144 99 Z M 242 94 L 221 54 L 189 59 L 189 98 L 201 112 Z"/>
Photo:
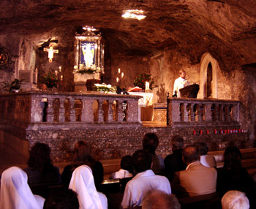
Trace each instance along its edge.
<path fill-rule="evenodd" d="M 1 123 L 139 123 L 141 96 L 31 91 L 2 94 Z"/>

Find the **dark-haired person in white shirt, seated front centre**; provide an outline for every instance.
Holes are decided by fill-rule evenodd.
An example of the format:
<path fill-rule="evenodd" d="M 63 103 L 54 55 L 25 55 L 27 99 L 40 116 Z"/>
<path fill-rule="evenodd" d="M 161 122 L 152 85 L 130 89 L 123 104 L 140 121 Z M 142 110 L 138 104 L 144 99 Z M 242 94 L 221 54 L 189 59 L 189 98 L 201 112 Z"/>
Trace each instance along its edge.
<path fill-rule="evenodd" d="M 141 206 L 143 196 L 151 189 L 158 189 L 171 194 L 169 180 L 165 176 L 155 175 L 151 170 L 152 158 L 148 151 L 135 151 L 132 159 L 133 167 L 138 174 L 127 183 L 121 208 Z"/>

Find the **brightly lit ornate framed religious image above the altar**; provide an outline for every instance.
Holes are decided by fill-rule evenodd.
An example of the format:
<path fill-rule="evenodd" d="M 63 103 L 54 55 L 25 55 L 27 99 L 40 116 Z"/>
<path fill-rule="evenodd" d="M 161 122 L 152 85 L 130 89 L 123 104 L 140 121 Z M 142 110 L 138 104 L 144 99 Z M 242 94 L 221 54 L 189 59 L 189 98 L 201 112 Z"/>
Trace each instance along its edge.
<path fill-rule="evenodd" d="M 75 35 L 74 72 L 81 74 L 104 73 L 104 45 L 99 29 L 84 27 Z"/>

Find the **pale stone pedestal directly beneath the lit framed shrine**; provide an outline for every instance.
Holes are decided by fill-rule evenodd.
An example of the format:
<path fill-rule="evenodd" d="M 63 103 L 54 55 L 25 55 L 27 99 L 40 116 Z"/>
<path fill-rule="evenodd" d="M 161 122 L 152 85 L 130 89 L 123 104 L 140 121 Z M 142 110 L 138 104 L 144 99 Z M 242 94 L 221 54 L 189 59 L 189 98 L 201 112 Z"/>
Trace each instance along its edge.
<path fill-rule="evenodd" d="M 75 92 L 83 92 L 86 91 L 86 81 L 87 80 L 91 80 L 91 79 L 95 79 L 95 80 L 100 80 L 100 74 L 97 73 L 93 73 L 93 74 L 88 74 L 88 73 L 84 73 L 84 74 L 80 74 L 80 73 L 75 73 L 74 74 L 74 83 L 75 83 Z"/>

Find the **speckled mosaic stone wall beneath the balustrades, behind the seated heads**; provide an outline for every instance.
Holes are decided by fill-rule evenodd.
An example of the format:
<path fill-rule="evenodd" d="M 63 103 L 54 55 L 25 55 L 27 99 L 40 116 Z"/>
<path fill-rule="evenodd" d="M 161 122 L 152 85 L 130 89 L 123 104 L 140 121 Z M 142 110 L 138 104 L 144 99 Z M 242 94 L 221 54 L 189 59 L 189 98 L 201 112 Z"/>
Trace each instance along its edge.
<path fill-rule="evenodd" d="M 202 126 L 196 129 L 193 127 L 55 129 L 52 126 L 50 129 L 37 131 L 27 129 L 26 139 L 29 140 L 30 146 L 35 142 L 45 142 L 50 145 L 55 162 L 72 160 L 72 148 L 79 140 L 91 143 L 97 159 L 118 159 L 141 149 L 143 135 L 147 132 L 154 132 L 159 137 L 157 153 L 161 156 L 166 156 L 171 152 L 170 140 L 174 134 L 184 136 L 185 145 L 190 145 L 196 140 L 205 140 L 208 142 L 210 151 L 224 150 L 230 143 L 239 148 L 252 148 L 248 134 L 242 132 L 241 129 L 239 131 L 239 128 L 239 126 Z M 217 133 L 214 133 L 214 130 Z M 225 130 L 229 133 L 225 134 Z"/>

